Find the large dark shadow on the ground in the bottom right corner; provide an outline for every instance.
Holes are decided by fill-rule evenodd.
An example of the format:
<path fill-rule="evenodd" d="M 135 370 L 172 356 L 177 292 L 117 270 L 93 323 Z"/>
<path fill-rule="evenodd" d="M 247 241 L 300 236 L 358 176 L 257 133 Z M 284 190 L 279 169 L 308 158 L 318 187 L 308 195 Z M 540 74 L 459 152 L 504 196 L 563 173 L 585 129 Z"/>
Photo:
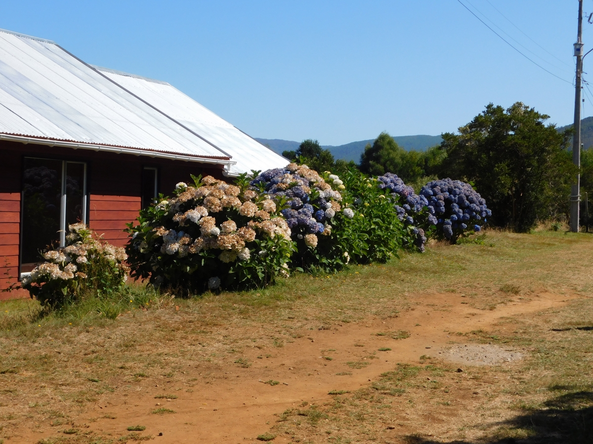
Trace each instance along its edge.
<path fill-rule="evenodd" d="M 554 386 L 551 390 L 570 390 Z M 492 424 L 490 433 L 476 441 L 449 444 L 585 444 L 593 443 L 593 391 L 577 391 L 552 398 L 541 408 L 514 419 Z M 408 436 L 409 444 L 441 444 L 442 441 Z"/>

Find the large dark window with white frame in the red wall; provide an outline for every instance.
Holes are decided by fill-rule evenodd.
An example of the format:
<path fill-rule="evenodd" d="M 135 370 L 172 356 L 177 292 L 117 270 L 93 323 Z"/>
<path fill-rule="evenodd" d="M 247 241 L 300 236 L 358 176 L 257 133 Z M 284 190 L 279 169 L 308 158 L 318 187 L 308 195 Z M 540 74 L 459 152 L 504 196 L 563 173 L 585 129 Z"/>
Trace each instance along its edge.
<path fill-rule="evenodd" d="M 43 260 L 47 246 L 65 245 L 68 224 L 87 222 L 86 182 L 86 163 L 25 157 L 21 272 Z"/>

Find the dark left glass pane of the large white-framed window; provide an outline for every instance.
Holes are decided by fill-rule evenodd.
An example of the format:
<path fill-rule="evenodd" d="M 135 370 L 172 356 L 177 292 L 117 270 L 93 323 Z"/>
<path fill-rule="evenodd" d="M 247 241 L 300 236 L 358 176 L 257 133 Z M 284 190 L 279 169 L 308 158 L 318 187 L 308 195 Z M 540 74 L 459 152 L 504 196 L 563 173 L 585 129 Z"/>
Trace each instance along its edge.
<path fill-rule="evenodd" d="M 39 252 L 60 239 L 62 161 L 25 158 L 21 264 L 42 260 Z M 21 271 L 27 271 L 21 269 Z"/>

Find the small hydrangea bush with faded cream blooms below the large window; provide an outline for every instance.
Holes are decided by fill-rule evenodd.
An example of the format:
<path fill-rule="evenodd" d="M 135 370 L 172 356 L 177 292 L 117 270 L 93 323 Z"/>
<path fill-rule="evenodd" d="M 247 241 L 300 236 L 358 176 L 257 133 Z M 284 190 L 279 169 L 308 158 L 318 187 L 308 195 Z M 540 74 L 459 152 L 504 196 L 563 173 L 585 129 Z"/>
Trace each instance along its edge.
<path fill-rule="evenodd" d="M 21 281 L 21 287 L 42 305 L 56 307 L 88 289 L 96 290 L 101 297 L 126 281 L 129 268 L 123 263 L 127 255 L 122 247 L 95 239 L 82 223 L 68 229 L 67 245 L 43 253 L 47 262 Z"/>

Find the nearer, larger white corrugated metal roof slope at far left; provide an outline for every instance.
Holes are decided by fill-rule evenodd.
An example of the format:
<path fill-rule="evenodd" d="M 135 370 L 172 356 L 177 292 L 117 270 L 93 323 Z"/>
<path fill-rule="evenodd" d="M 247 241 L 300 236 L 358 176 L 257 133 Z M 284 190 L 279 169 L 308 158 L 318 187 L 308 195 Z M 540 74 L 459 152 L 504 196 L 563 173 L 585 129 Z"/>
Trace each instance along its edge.
<path fill-rule="evenodd" d="M 0 134 L 229 163 L 212 143 L 57 44 L 4 30 L 0 30 Z"/>

